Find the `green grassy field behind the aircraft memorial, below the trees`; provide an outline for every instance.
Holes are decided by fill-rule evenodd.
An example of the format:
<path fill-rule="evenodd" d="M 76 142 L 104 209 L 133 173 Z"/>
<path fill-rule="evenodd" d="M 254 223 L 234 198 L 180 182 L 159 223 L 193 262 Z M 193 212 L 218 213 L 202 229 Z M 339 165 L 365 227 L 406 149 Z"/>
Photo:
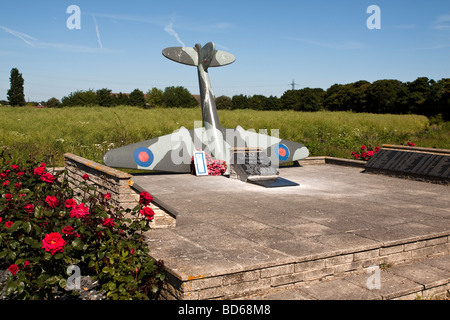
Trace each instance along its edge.
<path fill-rule="evenodd" d="M 351 158 L 362 144 L 406 144 L 450 149 L 450 123 L 430 123 L 418 115 L 351 112 L 220 110 L 223 127 L 278 129 L 280 138 L 301 142 L 311 156 Z M 49 165 L 62 166 L 71 152 L 101 162 L 122 145 L 172 133 L 201 121 L 200 109 L 141 109 L 119 106 L 61 109 L 0 107 L 0 147 L 27 157 L 37 153 Z"/>

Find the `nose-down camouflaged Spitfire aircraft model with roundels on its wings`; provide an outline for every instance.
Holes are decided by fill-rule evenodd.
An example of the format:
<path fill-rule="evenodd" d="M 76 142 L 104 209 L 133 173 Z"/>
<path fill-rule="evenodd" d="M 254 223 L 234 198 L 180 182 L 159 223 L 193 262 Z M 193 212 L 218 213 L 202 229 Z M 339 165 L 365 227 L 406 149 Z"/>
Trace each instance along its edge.
<path fill-rule="evenodd" d="M 190 172 L 195 150 L 205 151 L 213 159 L 224 160 L 227 164 L 233 161 L 231 151 L 239 148 L 262 150 L 274 166 L 308 156 L 309 151 L 303 144 L 280 139 L 276 134 L 270 136 L 240 126 L 236 129 L 221 127 L 208 69 L 233 63 L 236 58 L 232 54 L 216 50 L 212 42 L 203 47 L 200 44 L 194 48 L 170 47 L 162 54 L 175 62 L 197 67 L 203 121 L 196 122 L 194 129 L 181 127 L 172 134 L 110 150 L 103 158 L 107 166 Z"/>

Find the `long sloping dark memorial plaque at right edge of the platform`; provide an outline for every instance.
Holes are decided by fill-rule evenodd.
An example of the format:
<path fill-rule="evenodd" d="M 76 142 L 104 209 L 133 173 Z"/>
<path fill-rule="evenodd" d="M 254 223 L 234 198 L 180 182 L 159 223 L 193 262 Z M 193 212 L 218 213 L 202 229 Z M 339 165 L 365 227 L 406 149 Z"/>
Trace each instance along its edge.
<path fill-rule="evenodd" d="M 450 182 L 450 155 L 381 149 L 365 166 L 367 172 L 405 175 L 424 180 Z"/>

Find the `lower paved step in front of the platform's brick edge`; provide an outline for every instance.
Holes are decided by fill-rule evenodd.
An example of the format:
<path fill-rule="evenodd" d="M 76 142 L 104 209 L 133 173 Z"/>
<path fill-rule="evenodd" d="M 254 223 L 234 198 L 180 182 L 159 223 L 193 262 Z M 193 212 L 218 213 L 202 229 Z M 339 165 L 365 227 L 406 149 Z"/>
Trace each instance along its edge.
<path fill-rule="evenodd" d="M 416 300 L 450 299 L 450 255 L 388 266 L 370 273 L 279 289 L 255 300 Z"/>

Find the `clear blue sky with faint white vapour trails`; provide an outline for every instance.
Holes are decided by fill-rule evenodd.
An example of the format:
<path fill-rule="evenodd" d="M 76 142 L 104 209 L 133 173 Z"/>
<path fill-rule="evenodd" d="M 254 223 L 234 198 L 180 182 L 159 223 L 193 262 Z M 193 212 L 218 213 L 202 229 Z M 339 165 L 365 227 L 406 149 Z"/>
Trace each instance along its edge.
<path fill-rule="evenodd" d="M 70 5 L 81 10 L 81 29 L 67 28 Z M 370 5 L 380 8 L 381 29 L 366 25 Z M 450 77 L 450 1 L 2 1 L 0 100 L 14 67 L 27 101 L 101 88 L 198 94 L 196 69 L 161 51 L 209 41 L 236 56 L 210 69 L 216 96 L 279 97 L 292 80 L 296 89 L 439 80 Z"/>

